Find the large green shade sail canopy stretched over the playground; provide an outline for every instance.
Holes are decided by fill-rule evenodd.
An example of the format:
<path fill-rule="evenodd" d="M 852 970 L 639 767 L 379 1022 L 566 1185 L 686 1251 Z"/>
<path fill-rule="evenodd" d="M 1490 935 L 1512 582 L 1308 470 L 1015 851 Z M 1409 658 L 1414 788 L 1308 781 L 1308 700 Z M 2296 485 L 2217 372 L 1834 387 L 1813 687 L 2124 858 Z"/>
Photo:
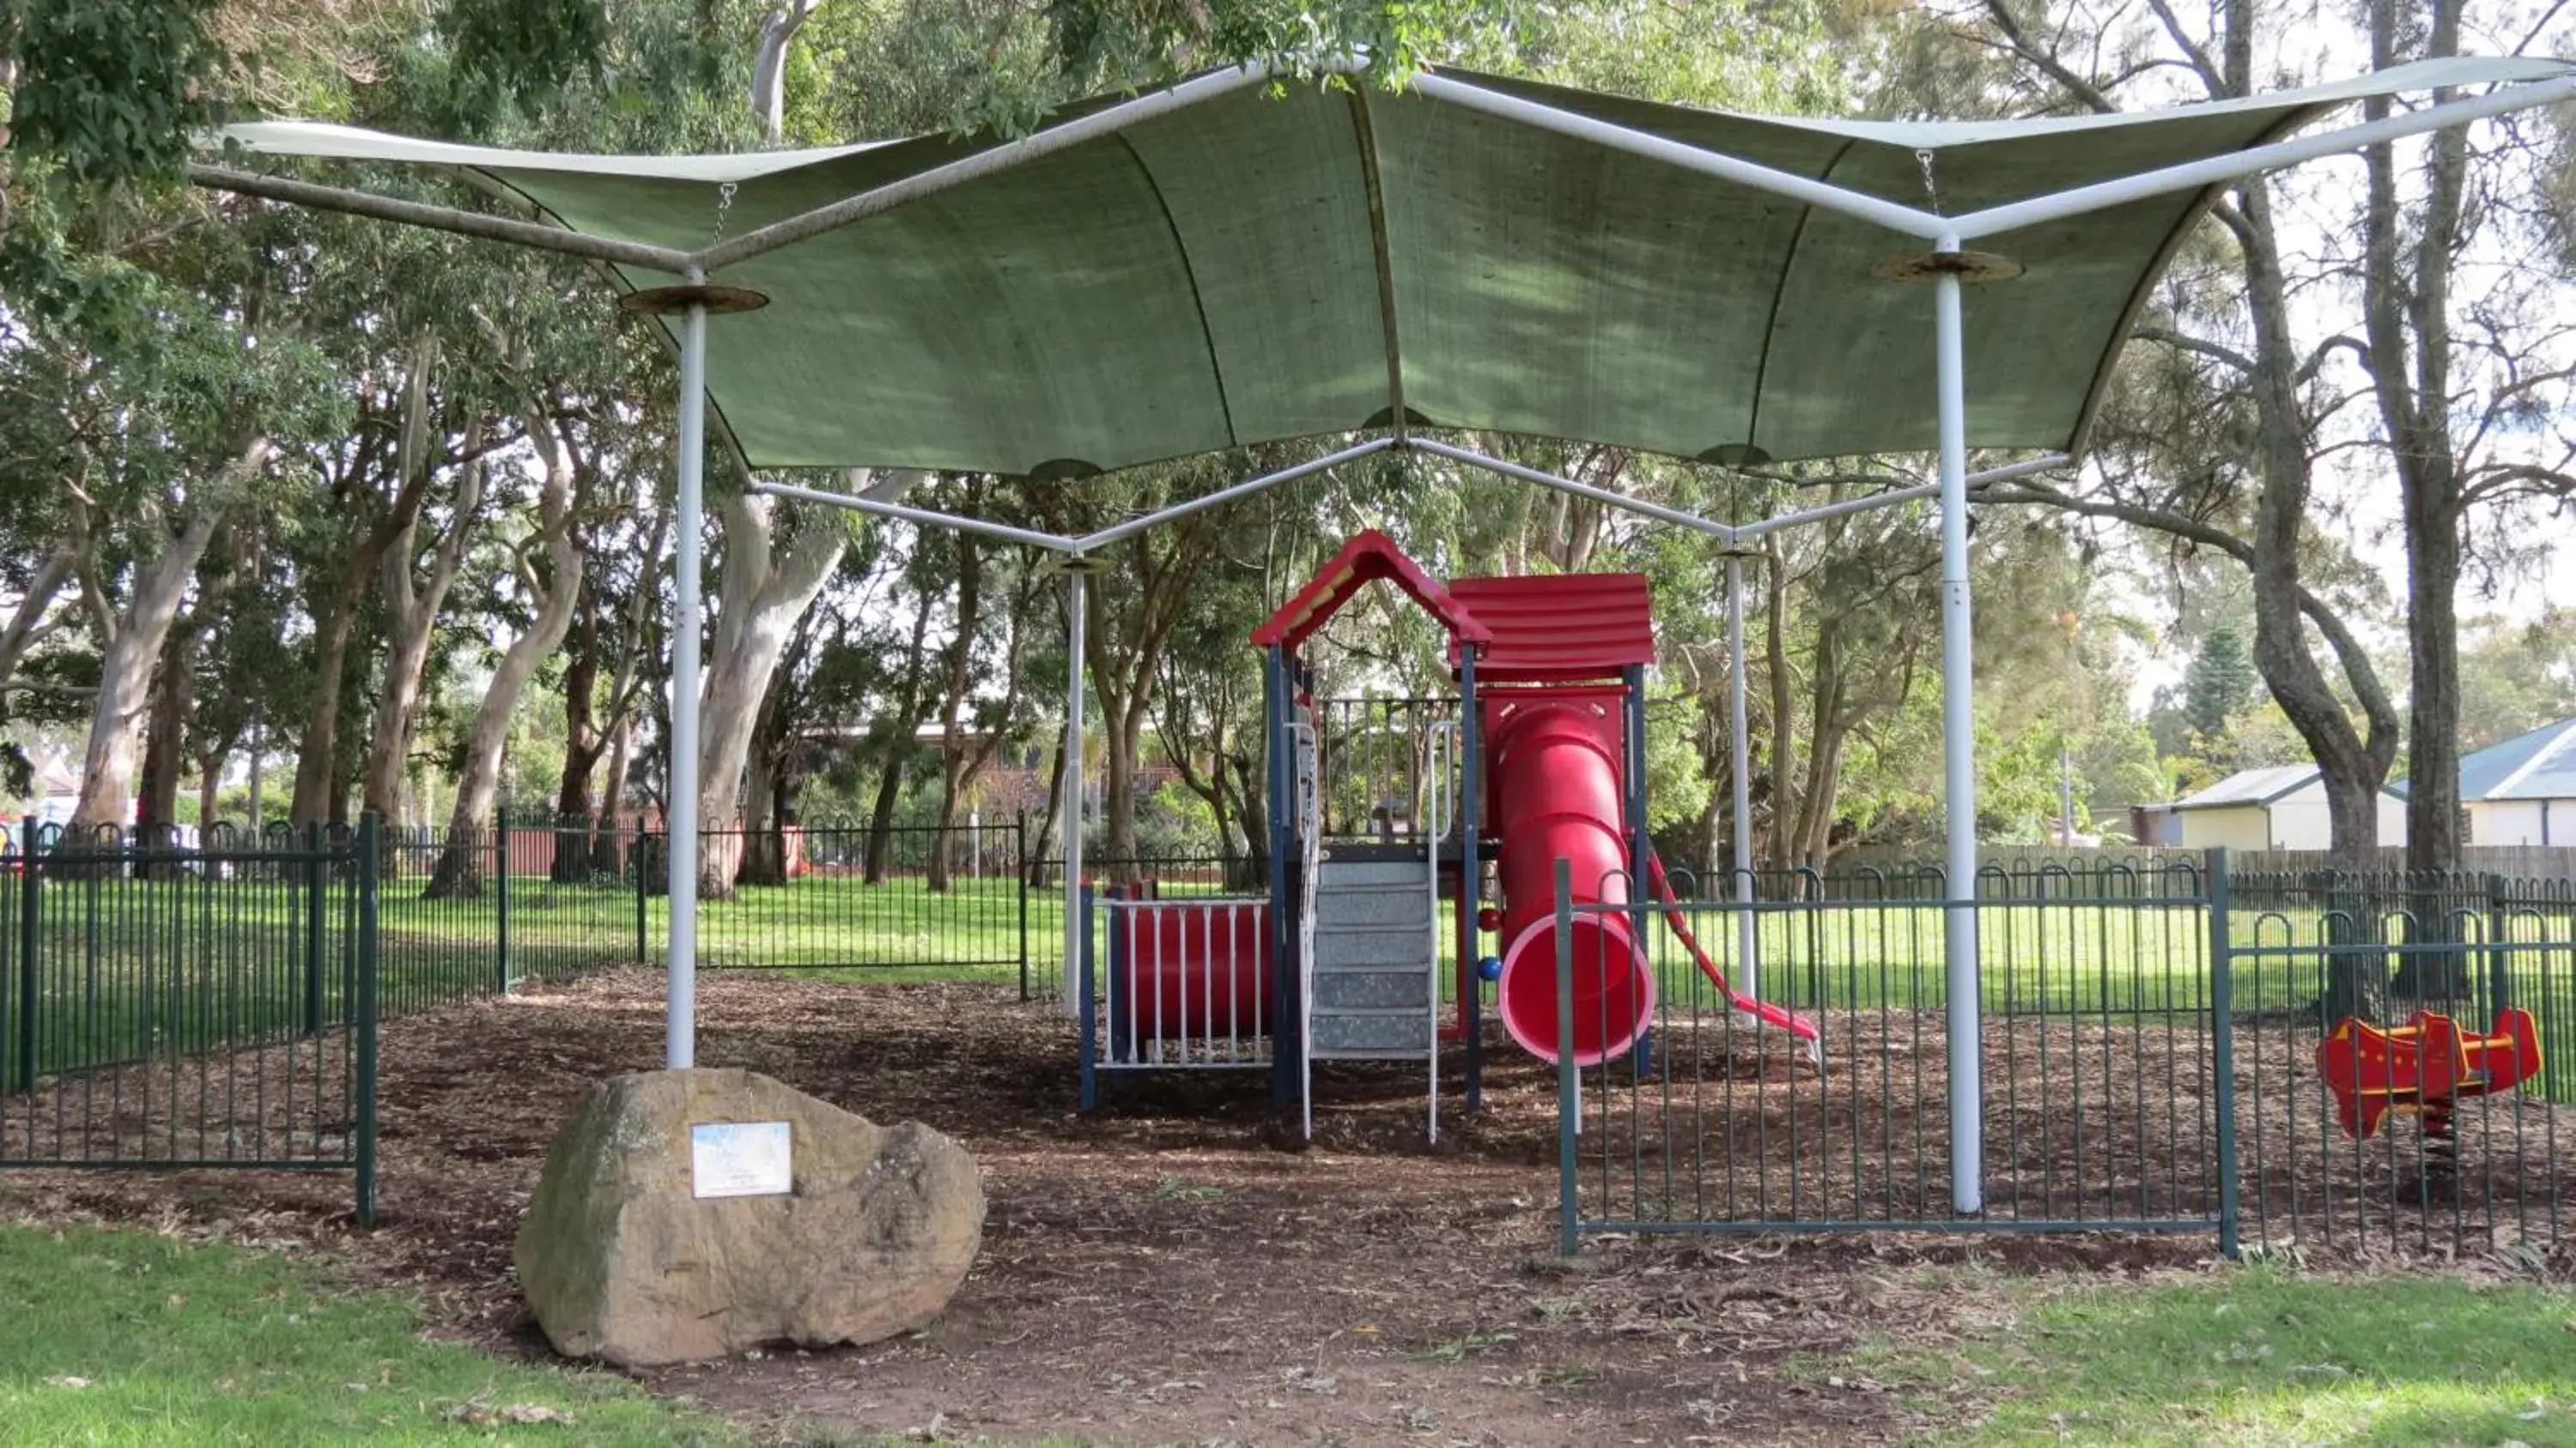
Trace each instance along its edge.
<path fill-rule="evenodd" d="M 1262 85 L 992 165 L 721 265 L 770 299 L 708 322 L 708 397 L 752 469 L 1084 474 L 1319 433 L 1533 433 L 1736 461 L 1935 446 L 1929 250 L 1868 219 L 1461 103 L 1461 88 L 1958 216 L 2272 142 L 2378 93 L 2561 77 L 2421 62 L 2172 111 L 1880 124 L 1734 116 L 1445 72 Z M 1113 100 L 1074 106 L 1103 113 Z M 963 157 L 917 137 L 585 157 L 319 124 L 252 155 L 459 167 L 562 227 L 706 250 Z M 2208 204 L 2169 191 L 1981 237 L 1968 443 L 2081 443 L 2120 338 Z M 618 268 L 636 289 L 680 281 Z"/>

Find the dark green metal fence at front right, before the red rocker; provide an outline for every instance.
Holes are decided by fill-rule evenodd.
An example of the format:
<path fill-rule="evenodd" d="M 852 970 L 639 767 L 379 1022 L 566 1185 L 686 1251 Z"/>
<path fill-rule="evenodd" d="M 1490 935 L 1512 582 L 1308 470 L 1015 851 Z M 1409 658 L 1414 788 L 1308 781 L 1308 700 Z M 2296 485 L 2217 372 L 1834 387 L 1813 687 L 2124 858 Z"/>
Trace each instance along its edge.
<path fill-rule="evenodd" d="M 1790 899 L 1770 894 L 1783 884 Z M 1602 982 L 1628 958 L 1654 984 L 1643 1051 L 1558 1072 L 1569 1244 L 2105 1229 L 2463 1252 L 2576 1224 L 2576 899 L 2558 881 L 2231 881 L 2223 855 L 1989 866 L 1973 1054 L 1953 1051 L 1940 871 L 1765 881 L 1749 904 L 1680 894 L 1669 915 L 1558 907 L 1569 1043 L 1620 1036 Z M 1795 1010 L 1816 1051 L 1718 979 Z M 2540 1046 L 2512 1090 L 2409 1098 L 2406 1080 L 2445 1069 L 2439 1031 L 2401 1031 L 2393 1082 L 2329 1074 L 2321 1054 L 2347 1018 L 2401 1028 L 2432 1010 L 2483 1038 L 2509 1007 Z M 1963 1216 L 1947 1082 L 1965 1062 L 1984 1170 Z M 2398 1110 L 2352 1134 L 2352 1092 Z"/>

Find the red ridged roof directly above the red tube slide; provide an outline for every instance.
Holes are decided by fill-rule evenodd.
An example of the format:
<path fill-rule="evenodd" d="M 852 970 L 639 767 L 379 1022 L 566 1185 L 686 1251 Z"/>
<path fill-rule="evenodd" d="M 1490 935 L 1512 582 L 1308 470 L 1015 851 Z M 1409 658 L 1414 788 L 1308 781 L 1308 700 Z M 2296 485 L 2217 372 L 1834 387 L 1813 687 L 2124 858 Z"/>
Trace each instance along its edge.
<path fill-rule="evenodd" d="M 1450 598 L 1494 634 L 1476 654 L 1476 683 L 1618 678 L 1654 662 L 1654 598 L 1641 572 L 1453 577 Z"/>

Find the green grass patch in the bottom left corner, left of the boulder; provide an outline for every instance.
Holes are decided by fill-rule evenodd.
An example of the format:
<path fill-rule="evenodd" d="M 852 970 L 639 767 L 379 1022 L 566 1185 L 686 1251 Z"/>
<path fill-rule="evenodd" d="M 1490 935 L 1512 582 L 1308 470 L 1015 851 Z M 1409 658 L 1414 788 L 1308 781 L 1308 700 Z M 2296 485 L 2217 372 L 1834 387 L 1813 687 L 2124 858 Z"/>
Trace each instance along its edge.
<path fill-rule="evenodd" d="M 268 1252 L 0 1226 L 0 1443 L 729 1445 L 742 1435 L 611 1373 L 433 1342 L 412 1304 L 332 1291 Z"/>

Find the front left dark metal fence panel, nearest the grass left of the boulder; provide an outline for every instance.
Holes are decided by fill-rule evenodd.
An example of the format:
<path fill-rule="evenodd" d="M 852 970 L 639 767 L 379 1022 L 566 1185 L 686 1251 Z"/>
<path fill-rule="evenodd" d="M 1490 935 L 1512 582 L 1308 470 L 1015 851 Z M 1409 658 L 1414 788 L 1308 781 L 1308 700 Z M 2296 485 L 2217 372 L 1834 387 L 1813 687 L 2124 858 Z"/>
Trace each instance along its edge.
<path fill-rule="evenodd" d="M 0 853 L 0 1167 L 353 1170 L 376 1190 L 376 837 Z"/>

